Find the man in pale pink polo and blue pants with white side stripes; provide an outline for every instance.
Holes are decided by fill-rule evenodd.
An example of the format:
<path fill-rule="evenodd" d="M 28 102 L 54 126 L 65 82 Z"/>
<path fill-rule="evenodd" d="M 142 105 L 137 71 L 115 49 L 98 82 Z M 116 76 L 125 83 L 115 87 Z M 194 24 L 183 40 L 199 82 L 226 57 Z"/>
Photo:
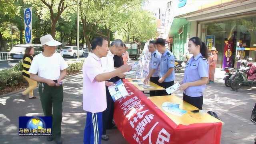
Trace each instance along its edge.
<path fill-rule="evenodd" d="M 131 68 L 124 65 L 112 72 L 104 72 L 100 58 L 108 54 L 108 41 L 98 37 L 92 40 L 91 45 L 92 53 L 89 53 L 83 64 L 83 109 L 87 112 L 84 144 L 101 144 L 102 112 L 107 108 L 105 85 L 113 84 L 105 81 Z"/>

